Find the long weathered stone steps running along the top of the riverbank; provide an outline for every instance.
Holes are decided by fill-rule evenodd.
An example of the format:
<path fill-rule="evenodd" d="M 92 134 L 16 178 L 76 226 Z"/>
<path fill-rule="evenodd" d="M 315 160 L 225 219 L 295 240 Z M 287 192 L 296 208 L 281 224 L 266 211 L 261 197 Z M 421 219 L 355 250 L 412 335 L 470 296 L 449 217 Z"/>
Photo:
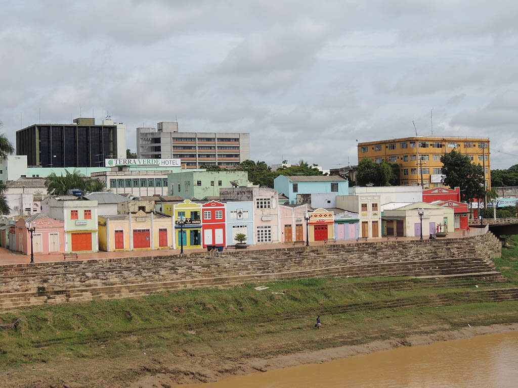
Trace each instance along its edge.
<path fill-rule="evenodd" d="M 0 310 L 309 277 L 506 281 L 494 235 L 0 266 Z M 501 292 L 501 291 L 499 291 Z"/>

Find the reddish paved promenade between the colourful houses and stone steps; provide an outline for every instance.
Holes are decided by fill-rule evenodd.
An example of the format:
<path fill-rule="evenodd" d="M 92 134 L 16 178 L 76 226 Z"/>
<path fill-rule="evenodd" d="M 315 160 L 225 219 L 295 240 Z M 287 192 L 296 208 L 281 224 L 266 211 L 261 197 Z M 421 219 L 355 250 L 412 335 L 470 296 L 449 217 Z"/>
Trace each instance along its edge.
<path fill-rule="evenodd" d="M 458 238 L 458 237 L 467 237 L 479 235 L 483 229 L 471 229 L 466 233 L 462 231 L 455 231 L 453 233 L 448 233 L 448 236 L 445 238 Z M 423 238 L 426 238 L 423 236 Z M 395 237 L 390 237 L 390 241 L 394 241 Z M 419 240 L 419 237 L 397 237 L 397 241 L 410 241 L 410 240 Z M 384 242 L 387 241 L 386 237 L 381 238 L 369 238 L 368 242 Z M 364 244 L 364 241 L 360 242 Z M 340 240 L 336 244 L 356 244 L 356 240 Z M 323 241 L 319 242 L 311 242 L 311 246 L 324 245 Z M 250 245 L 246 250 L 261 250 L 261 249 L 279 249 L 279 248 L 292 248 L 293 245 L 291 243 L 287 244 L 268 244 L 268 245 Z M 207 249 L 184 249 L 184 253 L 194 253 L 194 252 L 207 252 Z M 166 256 L 166 255 L 179 255 L 180 249 L 162 249 L 162 250 L 134 250 L 134 251 L 123 251 L 123 252 L 104 252 L 99 251 L 95 253 L 78 253 L 79 260 L 99 260 L 99 259 L 117 259 L 124 257 L 139 257 L 139 256 Z M 13 252 L 9 249 L 0 247 L 0 265 L 7 264 L 24 264 L 29 263 L 31 261 L 31 257 L 24 255 L 20 252 Z M 63 261 L 63 255 L 34 255 L 35 263 L 44 263 L 44 262 L 55 262 L 55 261 Z"/>

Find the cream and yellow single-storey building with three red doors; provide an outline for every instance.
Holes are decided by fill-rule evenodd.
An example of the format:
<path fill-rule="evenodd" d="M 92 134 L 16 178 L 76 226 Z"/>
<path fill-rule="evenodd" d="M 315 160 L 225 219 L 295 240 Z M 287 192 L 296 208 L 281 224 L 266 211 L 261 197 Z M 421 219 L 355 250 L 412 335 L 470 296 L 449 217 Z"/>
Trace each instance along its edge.
<path fill-rule="evenodd" d="M 169 249 L 174 245 L 171 217 L 154 213 L 99 216 L 99 249 L 108 252 Z"/>

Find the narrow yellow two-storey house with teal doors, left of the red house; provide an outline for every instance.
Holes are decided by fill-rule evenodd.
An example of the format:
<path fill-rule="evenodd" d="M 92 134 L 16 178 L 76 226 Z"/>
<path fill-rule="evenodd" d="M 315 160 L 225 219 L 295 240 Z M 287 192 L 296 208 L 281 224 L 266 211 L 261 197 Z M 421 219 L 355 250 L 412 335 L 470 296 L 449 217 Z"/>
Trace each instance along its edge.
<path fill-rule="evenodd" d="M 186 199 L 174 205 L 174 212 L 175 248 L 182 243 L 184 249 L 202 248 L 202 204 Z M 185 222 L 183 228 L 178 225 L 180 218 Z"/>

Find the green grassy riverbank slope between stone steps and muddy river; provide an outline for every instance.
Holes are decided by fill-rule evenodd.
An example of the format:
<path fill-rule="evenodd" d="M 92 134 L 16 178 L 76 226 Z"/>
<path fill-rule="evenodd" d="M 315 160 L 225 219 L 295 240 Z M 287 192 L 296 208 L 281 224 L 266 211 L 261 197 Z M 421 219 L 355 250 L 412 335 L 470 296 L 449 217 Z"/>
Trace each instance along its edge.
<path fill-rule="evenodd" d="M 219 365 L 252 355 L 267 358 L 468 323 L 518 322 L 517 301 L 492 303 L 464 295 L 476 284 L 477 290 L 518 285 L 518 248 L 502 252 L 495 262 L 512 284 L 394 278 L 389 295 L 386 278 L 301 279 L 268 283 L 270 289 L 264 291 L 244 285 L 24 308 L 0 314 L 0 324 L 24 320 L 16 331 L 0 330 L 0 366 L 16 371 L 27 363 L 66 365 L 60 375 L 74 375 L 77 381 L 87 382 L 97 373 L 89 386 L 123 386 L 140 374 L 162 370 L 166 359 L 181 363 L 185 353 L 203 354 L 207 347 L 218 349 L 209 354 Z M 450 306 L 427 307 L 444 295 Z M 318 314 L 325 332 L 313 330 Z M 146 358 L 150 354 L 152 360 Z M 154 369 L 157 365 L 160 368 Z M 55 375 L 44 376 L 35 386 L 61 381 Z M 3 382 L 0 377 L 0 385 Z"/>

